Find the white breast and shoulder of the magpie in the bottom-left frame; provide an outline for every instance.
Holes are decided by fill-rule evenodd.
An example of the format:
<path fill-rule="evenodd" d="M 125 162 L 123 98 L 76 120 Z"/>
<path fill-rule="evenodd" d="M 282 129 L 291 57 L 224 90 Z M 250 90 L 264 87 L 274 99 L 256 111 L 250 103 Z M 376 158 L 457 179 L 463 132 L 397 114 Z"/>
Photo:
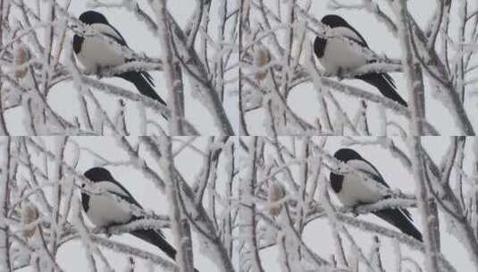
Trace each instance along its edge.
<path fill-rule="evenodd" d="M 114 183 L 99 182 L 95 183 L 100 191 L 114 191 L 124 194 Z M 103 192 L 91 194 L 89 196 L 89 208 L 87 217 L 96 226 L 107 226 L 111 224 L 123 224 L 130 221 L 132 213 L 126 203 L 122 203 L 111 193 Z"/>

